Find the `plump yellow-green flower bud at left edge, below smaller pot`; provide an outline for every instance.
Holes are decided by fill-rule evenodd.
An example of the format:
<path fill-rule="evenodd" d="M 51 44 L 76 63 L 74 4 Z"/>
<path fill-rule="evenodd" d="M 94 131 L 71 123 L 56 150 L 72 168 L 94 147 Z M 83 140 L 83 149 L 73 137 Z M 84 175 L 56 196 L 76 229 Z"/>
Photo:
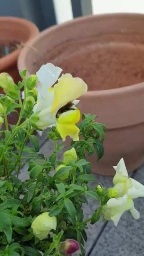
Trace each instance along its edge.
<path fill-rule="evenodd" d="M 3 88 L 4 92 L 12 97 L 18 99 L 19 91 L 17 86 L 14 84 L 13 78 L 8 73 L 0 73 L 0 87 Z"/>

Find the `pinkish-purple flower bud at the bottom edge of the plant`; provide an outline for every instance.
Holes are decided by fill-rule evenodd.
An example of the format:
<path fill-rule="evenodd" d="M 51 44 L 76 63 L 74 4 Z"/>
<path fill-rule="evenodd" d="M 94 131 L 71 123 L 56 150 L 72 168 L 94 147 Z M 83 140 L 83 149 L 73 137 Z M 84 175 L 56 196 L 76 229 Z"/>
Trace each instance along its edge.
<path fill-rule="evenodd" d="M 64 255 L 71 255 L 79 250 L 79 244 L 73 239 L 67 239 L 66 241 L 60 243 L 59 250 L 61 253 L 64 253 Z"/>

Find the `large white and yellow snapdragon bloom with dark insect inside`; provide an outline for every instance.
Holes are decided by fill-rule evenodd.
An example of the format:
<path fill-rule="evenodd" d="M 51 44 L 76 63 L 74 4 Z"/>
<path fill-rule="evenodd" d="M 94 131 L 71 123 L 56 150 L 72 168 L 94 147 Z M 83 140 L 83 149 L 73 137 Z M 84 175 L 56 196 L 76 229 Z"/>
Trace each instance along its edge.
<path fill-rule="evenodd" d="M 36 73 L 40 82 L 37 104 L 33 109 L 39 117 L 36 125 L 41 129 L 57 126 L 63 140 L 66 136 L 78 140 L 79 129 L 75 124 L 80 120 L 80 111 L 76 108 L 76 99 L 86 93 L 87 85 L 71 74 L 64 74 L 58 79 L 61 72 L 61 68 L 47 63 Z"/>

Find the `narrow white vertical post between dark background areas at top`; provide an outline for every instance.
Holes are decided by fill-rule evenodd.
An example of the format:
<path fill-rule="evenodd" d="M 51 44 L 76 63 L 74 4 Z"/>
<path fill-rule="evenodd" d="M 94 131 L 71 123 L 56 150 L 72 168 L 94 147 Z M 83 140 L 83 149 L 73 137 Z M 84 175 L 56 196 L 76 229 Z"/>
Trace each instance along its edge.
<path fill-rule="evenodd" d="M 53 0 L 57 23 L 73 19 L 71 0 Z"/>

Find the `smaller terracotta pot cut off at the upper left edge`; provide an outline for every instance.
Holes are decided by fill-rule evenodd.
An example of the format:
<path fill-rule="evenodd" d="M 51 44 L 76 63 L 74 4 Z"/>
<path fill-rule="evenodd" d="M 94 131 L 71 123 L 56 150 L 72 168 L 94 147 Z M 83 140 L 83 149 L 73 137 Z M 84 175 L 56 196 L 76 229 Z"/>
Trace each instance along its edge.
<path fill-rule="evenodd" d="M 38 28 L 30 21 L 15 17 L 0 17 L 0 45 L 8 45 L 14 41 L 27 45 L 27 41 L 38 33 Z M 9 73 L 15 83 L 21 79 L 17 69 L 17 58 L 21 49 L 22 47 L 0 58 L 0 72 Z M 1 88 L 0 93 L 3 93 Z M 9 123 L 14 124 L 17 118 L 16 113 L 11 113 L 8 117 Z"/>

